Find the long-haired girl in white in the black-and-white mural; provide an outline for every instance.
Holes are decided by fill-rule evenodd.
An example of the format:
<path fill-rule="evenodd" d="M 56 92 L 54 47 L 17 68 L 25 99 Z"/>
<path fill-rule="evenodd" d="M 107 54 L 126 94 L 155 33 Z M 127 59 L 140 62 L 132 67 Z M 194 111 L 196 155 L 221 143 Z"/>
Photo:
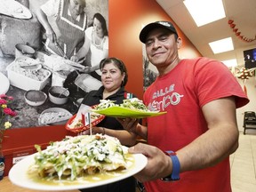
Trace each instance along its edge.
<path fill-rule="evenodd" d="M 90 92 L 98 90 L 100 82 L 100 60 L 108 57 L 108 28 L 104 17 L 98 12 L 93 16 L 92 27 L 85 30 L 85 41 L 83 47 L 70 60 L 77 62 L 85 59 L 86 68 L 84 74 L 77 76 L 75 84 Z M 90 76 L 88 76 L 90 74 Z M 99 81 L 99 82 L 97 82 Z M 93 85 L 92 85 L 93 84 Z"/>

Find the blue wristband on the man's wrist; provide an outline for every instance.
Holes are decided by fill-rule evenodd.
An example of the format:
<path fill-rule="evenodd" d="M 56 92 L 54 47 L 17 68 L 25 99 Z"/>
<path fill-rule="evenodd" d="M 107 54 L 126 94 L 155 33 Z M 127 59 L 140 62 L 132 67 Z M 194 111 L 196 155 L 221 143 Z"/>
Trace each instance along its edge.
<path fill-rule="evenodd" d="M 180 161 L 176 156 L 176 153 L 173 151 L 166 151 L 166 153 L 172 159 L 172 173 L 170 176 L 164 177 L 161 180 L 164 180 L 164 181 L 180 180 Z"/>

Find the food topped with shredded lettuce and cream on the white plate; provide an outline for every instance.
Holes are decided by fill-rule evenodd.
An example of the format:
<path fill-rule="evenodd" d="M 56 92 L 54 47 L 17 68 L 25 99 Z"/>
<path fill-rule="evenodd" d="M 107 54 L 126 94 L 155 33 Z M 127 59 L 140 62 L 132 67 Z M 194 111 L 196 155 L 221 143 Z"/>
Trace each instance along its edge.
<path fill-rule="evenodd" d="M 67 136 L 55 141 L 45 150 L 35 146 L 38 153 L 31 169 L 39 177 L 76 180 L 86 174 L 125 169 L 125 151 L 120 141 L 108 135 Z"/>

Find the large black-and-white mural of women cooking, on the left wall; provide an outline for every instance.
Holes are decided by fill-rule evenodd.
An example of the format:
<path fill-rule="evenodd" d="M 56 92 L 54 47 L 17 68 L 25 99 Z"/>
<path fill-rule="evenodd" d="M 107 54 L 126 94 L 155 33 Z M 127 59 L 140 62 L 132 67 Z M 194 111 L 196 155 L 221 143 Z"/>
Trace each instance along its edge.
<path fill-rule="evenodd" d="M 100 60 L 108 57 L 108 1 L 3 2 L 0 94 L 13 97 L 18 115 L 12 128 L 66 124 L 86 92 L 101 86 Z"/>

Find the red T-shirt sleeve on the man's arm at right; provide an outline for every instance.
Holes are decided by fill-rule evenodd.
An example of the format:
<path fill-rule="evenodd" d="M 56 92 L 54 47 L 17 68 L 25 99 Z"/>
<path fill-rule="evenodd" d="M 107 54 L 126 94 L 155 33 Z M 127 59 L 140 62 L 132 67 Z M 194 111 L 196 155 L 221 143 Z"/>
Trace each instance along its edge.
<path fill-rule="evenodd" d="M 249 102 L 236 77 L 223 63 L 217 60 L 205 58 L 199 60 L 195 79 L 196 92 L 201 107 L 212 100 L 230 96 L 235 96 L 236 108 Z"/>

